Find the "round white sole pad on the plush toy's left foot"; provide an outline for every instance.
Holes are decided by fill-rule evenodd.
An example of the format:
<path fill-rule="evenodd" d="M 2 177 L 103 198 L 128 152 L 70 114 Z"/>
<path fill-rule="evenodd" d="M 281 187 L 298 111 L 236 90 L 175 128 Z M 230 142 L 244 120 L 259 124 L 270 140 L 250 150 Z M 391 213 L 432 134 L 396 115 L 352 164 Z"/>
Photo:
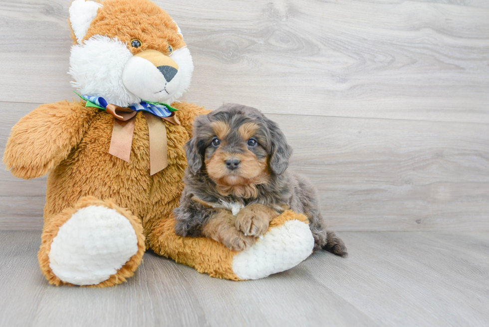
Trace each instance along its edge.
<path fill-rule="evenodd" d="M 49 267 L 63 282 L 99 284 L 138 252 L 136 232 L 114 209 L 88 206 L 76 211 L 51 243 Z"/>

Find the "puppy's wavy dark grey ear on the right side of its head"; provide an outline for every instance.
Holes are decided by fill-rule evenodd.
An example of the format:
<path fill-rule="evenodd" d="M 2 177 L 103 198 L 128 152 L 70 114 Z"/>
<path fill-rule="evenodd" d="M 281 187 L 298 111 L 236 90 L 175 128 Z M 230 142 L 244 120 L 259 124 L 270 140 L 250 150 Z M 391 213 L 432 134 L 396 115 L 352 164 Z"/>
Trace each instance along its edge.
<path fill-rule="evenodd" d="M 266 125 L 270 131 L 270 169 L 280 175 L 288 167 L 288 159 L 292 155 L 292 148 L 288 145 L 285 135 L 278 125 L 266 119 Z"/>

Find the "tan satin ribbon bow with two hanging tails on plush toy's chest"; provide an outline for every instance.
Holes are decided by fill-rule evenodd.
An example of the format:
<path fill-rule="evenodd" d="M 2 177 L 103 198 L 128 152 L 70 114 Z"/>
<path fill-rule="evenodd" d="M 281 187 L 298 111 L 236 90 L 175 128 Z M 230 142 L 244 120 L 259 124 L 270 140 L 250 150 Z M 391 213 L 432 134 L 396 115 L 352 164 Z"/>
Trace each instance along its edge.
<path fill-rule="evenodd" d="M 115 104 L 108 104 L 106 111 L 114 116 L 109 153 L 129 162 L 136 124 L 136 120 L 132 118 L 136 116 L 137 112 Z M 180 122 L 174 112 L 169 117 L 161 117 L 162 119 L 147 111 L 144 111 L 143 115 L 148 123 L 150 174 L 154 175 L 168 166 L 168 140 L 166 126 L 162 119 L 175 125 L 180 125 Z"/>

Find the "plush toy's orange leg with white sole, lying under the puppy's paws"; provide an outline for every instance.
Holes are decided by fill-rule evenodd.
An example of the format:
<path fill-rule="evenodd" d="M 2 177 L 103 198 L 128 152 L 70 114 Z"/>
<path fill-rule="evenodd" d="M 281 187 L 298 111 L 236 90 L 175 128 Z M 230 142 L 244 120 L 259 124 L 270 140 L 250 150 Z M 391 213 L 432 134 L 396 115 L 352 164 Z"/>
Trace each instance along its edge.
<path fill-rule="evenodd" d="M 207 238 L 177 236 L 174 225 L 174 219 L 162 221 L 148 237 L 157 254 L 200 273 L 237 281 L 260 279 L 290 269 L 306 259 L 314 247 L 307 218 L 290 210 L 273 219 L 267 232 L 242 252 Z"/>

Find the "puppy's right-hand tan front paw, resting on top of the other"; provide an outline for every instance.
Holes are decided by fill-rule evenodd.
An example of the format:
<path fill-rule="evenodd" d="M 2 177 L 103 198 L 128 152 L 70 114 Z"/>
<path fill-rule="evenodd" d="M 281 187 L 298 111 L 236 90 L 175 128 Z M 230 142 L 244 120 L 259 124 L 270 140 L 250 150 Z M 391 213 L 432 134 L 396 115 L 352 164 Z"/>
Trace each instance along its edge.
<path fill-rule="evenodd" d="M 243 208 L 236 217 L 236 228 L 245 235 L 260 236 L 268 230 L 270 221 L 278 216 L 273 209 L 261 204 L 252 204 Z"/>

